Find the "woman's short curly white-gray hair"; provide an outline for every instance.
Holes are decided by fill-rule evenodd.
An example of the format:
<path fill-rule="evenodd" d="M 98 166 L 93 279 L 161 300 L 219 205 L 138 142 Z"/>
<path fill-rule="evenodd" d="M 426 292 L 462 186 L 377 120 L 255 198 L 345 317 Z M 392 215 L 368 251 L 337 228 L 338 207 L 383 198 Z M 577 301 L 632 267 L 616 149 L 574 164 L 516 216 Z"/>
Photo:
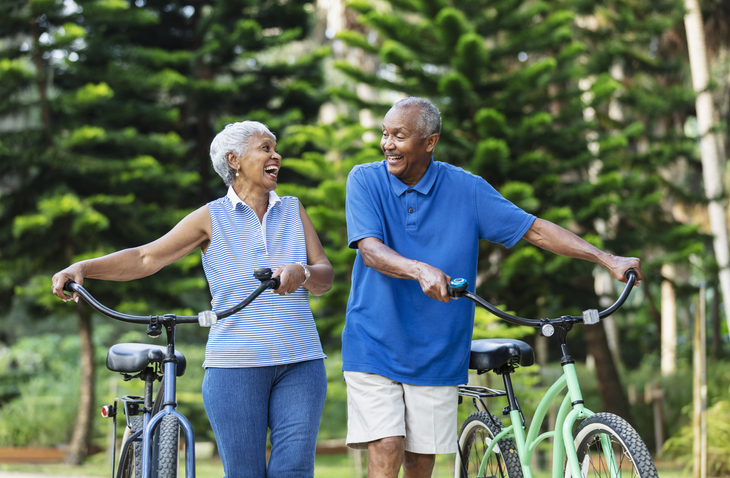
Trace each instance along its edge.
<path fill-rule="evenodd" d="M 226 156 L 228 153 L 236 156 L 246 154 L 248 142 L 256 133 L 271 135 L 276 140 L 276 135 L 265 124 L 258 121 L 239 121 L 227 124 L 211 141 L 210 161 L 226 186 L 233 184 L 236 177 L 236 170 L 228 164 Z"/>

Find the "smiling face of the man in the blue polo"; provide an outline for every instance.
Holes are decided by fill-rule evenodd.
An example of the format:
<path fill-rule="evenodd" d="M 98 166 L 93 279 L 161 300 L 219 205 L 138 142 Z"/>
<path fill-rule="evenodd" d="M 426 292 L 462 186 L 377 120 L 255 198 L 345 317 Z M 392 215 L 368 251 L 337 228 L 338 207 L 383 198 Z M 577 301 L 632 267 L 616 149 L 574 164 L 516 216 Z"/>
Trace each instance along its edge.
<path fill-rule="evenodd" d="M 431 154 L 439 135 L 427 137 L 416 125 L 420 116 L 417 106 L 391 109 L 383 119 L 380 148 L 388 162 L 388 172 L 408 186 L 421 180 L 431 162 Z"/>

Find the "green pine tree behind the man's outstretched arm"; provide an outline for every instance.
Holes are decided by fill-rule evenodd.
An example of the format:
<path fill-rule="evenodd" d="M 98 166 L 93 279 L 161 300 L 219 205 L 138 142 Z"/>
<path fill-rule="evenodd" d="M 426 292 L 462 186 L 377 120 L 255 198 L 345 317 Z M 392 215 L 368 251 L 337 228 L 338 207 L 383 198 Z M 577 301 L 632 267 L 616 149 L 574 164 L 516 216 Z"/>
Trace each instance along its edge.
<path fill-rule="evenodd" d="M 378 10 L 354 1 L 350 7 L 377 36 L 347 31 L 339 38 L 377 55 L 381 68 L 337 66 L 382 91 L 432 100 L 444 120 L 437 160 L 481 175 L 526 211 L 602 249 L 644 257 L 648 275 L 670 236 L 674 251 L 681 241 L 678 259 L 701 242 L 663 209 L 662 196 L 677 191 L 656 174 L 687 151 L 686 141 L 645 126 L 686 107 L 689 97 L 677 86 L 671 105 L 647 108 L 649 95 L 676 74 L 676 65 L 650 54 L 652 39 L 676 22 L 678 2 L 641 3 L 398 0 Z M 629 64 L 623 83 L 611 78 L 614 61 Z M 620 120 L 607 114 L 619 87 Z M 390 106 L 344 89 L 340 96 L 381 116 Z M 520 315 L 580 313 L 598 303 L 590 263 L 524 242 L 510 251 L 483 244 L 480 258 L 479 291 Z M 601 369 L 609 370 L 602 326 L 591 329 L 599 334 L 589 340 L 591 352 L 607 357 Z M 602 379 L 621 390 L 615 369 Z M 628 413 L 622 393 L 604 394 L 604 403 Z"/>

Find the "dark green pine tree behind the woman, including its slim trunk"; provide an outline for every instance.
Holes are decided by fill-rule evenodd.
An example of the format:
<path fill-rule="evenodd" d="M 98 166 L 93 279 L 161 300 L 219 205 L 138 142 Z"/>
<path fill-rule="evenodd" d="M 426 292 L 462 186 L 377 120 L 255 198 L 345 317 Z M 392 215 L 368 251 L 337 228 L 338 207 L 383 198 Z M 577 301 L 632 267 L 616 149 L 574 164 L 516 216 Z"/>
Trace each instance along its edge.
<path fill-rule="evenodd" d="M 312 9 L 305 1 L 94 0 L 70 11 L 63 2 L 14 6 L 4 18 L 13 34 L 31 36 L 24 29 L 32 19 L 47 24 L 45 40 L 37 37 L 26 53 L 47 59 L 42 70 L 10 65 L 3 75 L 18 77 L 18 91 L 37 77 L 52 94 L 38 95 L 46 108 L 42 123 L 0 136 L 11 183 L 2 191 L 7 240 L 0 261 L 14 271 L 3 280 L 3 313 L 23 300 L 68 313 L 49 296 L 55 271 L 154 240 L 192 208 L 223 195 L 208 149 L 225 123 L 255 119 L 276 132 L 314 121 L 322 102 L 319 63 L 327 50 L 276 53 L 306 37 Z M 9 57 L 24 51 L 10 40 L 5 45 Z M 34 111 L 35 105 L 16 103 L 6 110 L 11 121 Z M 104 303 L 131 313 L 192 313 L 210 307 L 199 263 L 193 253 L 153 278 L 87 285 Z M 94 372 L 91 315 L 81 304 L 76 311 L 84 384 L 73 462 L 90 444 Z"/>

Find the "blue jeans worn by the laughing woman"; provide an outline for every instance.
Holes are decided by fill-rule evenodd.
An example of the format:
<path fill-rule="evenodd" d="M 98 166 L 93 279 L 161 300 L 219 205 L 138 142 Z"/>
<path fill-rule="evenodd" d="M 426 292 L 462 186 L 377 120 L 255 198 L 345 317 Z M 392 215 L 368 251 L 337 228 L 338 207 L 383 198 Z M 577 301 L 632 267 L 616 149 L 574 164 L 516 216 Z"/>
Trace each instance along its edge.
<path fill-rule="evenodd" d="M 203 402 L 226 478 L 314 476 L 327 394 L 324 361 L 207 368 Z M 271 456 L 266 465 L 266 431 Z"/>

